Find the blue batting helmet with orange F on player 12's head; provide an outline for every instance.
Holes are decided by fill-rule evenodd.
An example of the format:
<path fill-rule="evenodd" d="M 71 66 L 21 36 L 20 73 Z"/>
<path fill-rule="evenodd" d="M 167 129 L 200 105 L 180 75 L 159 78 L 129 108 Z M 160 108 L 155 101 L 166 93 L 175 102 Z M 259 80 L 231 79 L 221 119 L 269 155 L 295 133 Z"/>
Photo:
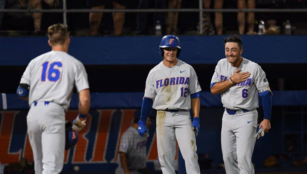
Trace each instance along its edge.
<path fill-rule="evenodd" d="M 160 56 L 164 55 L 163 48 L 166 48 L 166 47 L 177 48 L 177 57 L 179 57 L 181 47 L 180 47 L 180 41 L 179 41 L 177 36 L 166 35 L 166 36 L 162 37 L 161 42 L 160 42 L 160 46 L 159 46 Z"/>

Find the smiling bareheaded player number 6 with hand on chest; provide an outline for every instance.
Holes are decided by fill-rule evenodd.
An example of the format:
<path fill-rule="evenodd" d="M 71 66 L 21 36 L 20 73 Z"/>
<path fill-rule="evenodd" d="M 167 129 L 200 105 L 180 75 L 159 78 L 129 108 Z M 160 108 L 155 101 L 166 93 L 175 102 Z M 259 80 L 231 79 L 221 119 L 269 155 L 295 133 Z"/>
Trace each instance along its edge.
<path fill-rule="evenodd" d="M 237 35 L 229 36 L 224 39 L 224 43 L 226 58 L 216 65 L 211 92 L 221 93 L 225 108 L 221 130 L 225 169 L 227 174 L 254 174 L 251 157 L 256 138 L 259 138 L 255 137 L 258 95 L 262 99 L 264 112 L 258 133 L 263 131 L 263 136 L 271 128 L 272 92 L 261 67 L 241 57 L 241 38 Z"/>

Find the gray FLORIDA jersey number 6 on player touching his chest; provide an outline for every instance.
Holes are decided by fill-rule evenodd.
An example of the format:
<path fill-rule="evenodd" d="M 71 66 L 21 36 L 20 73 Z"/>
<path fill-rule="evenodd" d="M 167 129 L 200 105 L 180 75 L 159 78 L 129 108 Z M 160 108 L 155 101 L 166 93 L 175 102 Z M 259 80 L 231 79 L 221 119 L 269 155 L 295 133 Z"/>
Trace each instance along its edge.
<path fill-rule="evenodd" d="M 269 86 L 269 82 L 257 63 L 243 58 L 241 65 L 236 68 L 226 58 L 221 59 L 216 65 L 211 84 L 228 80 L 237 69 L 241 69 L 239 73 L 248 71 L 251 76 L 247 81 L 235 84 L 221 93 L 224 108 L 232 110 L 258 108 L 258 90 Z"/>

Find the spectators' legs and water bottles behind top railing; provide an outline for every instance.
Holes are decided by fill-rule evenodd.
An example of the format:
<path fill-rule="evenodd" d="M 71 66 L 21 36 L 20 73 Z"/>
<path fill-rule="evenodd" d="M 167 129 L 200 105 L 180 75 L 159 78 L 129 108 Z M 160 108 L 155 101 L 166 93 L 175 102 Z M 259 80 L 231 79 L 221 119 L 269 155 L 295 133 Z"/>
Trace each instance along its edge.
<path fill-rule="evenodd" d="M 264 9 L 263 12 L 204 12 L 202 35 L 307 34 L 306 0 L 202 0 L 203 9 Z M 199 0 L 66 0 L 67 9 L 199 9 Z M 63 0 L 0 0 L 1 9 L 63 9 Z M 0 9 L 0 10 L 1 10 Z M 1 36 L 45 35 L 63 13 L 0 12 Z M 199 12 L 67 13 L 72 36 L 200 34 Z"/>

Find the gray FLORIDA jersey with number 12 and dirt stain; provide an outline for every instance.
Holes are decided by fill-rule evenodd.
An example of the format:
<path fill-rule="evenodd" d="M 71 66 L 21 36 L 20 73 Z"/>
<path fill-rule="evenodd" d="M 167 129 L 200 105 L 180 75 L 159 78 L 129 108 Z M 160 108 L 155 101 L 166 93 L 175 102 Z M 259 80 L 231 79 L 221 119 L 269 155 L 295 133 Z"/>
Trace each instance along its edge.
<path fill-rule="evenodd" d="M 172 68 L 164 66 L 161 61 L 150 70 L 144 96 L 154 98 L 153 108 L 156 110 L 190 110 L 190 94 L 200 91 L 193 67 L 178 59 Z"/>

